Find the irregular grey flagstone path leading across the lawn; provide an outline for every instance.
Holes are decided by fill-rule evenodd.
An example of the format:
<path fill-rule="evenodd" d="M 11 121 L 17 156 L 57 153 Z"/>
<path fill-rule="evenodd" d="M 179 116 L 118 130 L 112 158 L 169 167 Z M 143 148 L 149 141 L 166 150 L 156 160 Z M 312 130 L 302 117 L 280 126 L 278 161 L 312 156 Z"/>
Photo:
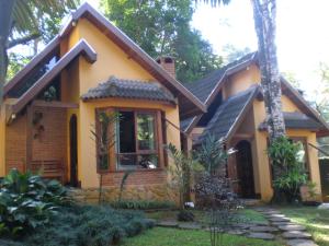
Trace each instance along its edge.
<path fill-rule="evenodd" d="M 293 223 L 284 214 L 269 208 L 256 209 L 262 213 L 269 222 L 259 223 L 239 223 L 225 232 L 234 235 L 243 235 L 250 238 L 259 238 L 265 241 L 277 239 L 284 242 L 287 246 L 317 246 L 311 239 L 311 235 L 306 232 L 306 227 Z M 177 227 L 185 230 L 206 230 L 195 222 L 177 222 L 177 221 L 159 221 L 158 226 Z"/>

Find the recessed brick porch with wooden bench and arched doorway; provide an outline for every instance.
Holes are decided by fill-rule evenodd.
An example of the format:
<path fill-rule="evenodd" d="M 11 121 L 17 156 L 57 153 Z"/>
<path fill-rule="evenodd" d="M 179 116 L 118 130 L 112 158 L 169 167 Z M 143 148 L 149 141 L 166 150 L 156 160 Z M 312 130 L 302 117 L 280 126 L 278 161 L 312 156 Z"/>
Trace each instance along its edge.
<path fill-rule="evenodd" d="M 77 186 L 77 116 L 71 113 L 78 107 L 72 103 L 36 99 L 9 121 L 7 173 L 11 168 L 31 171 Z"/>

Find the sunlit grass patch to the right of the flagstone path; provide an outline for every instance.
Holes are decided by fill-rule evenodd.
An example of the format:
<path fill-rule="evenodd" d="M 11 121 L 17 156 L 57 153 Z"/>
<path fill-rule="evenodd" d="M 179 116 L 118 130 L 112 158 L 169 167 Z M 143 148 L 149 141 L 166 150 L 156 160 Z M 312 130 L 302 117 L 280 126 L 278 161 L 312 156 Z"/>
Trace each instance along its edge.
<path fill-rule="evenodd" d="M 311 207 L 279 208 L 293 222 L 303 224 L 319 246 L 329 246 L 329 210 Z"/>

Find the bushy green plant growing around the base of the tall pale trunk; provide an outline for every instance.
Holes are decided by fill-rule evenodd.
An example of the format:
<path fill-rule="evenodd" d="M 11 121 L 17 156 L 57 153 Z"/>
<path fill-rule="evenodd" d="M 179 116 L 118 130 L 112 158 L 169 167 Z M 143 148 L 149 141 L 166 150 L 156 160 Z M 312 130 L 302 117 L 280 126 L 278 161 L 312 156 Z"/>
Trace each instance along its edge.
<path fill-rule="evenodd" d="M 299 187 L 306 184 L 307 175 L 298 161 L 298 144 L 288 138 L 275 139 L 268 149 L 273 167 L 274 202 L 300 200 Z"/>

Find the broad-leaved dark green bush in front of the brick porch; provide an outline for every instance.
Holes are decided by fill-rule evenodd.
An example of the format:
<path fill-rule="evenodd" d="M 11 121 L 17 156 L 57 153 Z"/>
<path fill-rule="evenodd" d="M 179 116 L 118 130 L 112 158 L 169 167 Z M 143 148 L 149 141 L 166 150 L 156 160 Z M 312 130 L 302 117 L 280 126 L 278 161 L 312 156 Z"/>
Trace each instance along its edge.
<path fill-rule="evenodd" d="M 12 169 L 0 183 L 0 234 L 20 236 L 49 222 L 59 206 L 69 204 L 66 189 L 27 172 Z"/>

